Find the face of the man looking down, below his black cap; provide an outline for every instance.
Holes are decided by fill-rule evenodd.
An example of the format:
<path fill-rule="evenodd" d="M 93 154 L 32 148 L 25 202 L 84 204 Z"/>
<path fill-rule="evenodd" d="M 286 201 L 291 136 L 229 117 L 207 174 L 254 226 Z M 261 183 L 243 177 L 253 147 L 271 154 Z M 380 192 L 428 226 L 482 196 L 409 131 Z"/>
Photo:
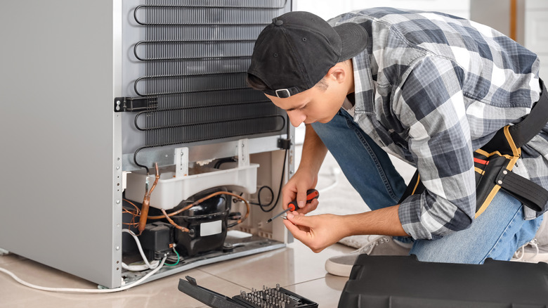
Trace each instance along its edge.
<path fill-rule="evenodd" d="M 327 84 L 327 89 L 313 86 L 311 89 L 288 98 L 265 95 L 274 105 L 287 111 L 289 121 L 294 127 L 298 127 L 303 122 L 305 124 L 327 123 L 337 115 L 344 98 L 346 98 L 346 91 L 338 82 L 333 82 L 328 78 Z"/>

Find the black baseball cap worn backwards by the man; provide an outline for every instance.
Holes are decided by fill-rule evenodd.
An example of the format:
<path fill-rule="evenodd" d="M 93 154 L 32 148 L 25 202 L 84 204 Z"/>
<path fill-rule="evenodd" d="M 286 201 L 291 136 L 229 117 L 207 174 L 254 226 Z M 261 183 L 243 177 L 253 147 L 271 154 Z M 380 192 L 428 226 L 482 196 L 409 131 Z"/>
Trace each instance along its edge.
<path fill-rule="evenodd" d="M 259 34 L 247 74 L 266 84 L 265 94 L 287 98 L 311 89 L 335 64 L 366 46 L 367 32 L 358 24 L 331 27 L 313 13 L 289 12 Z"/>

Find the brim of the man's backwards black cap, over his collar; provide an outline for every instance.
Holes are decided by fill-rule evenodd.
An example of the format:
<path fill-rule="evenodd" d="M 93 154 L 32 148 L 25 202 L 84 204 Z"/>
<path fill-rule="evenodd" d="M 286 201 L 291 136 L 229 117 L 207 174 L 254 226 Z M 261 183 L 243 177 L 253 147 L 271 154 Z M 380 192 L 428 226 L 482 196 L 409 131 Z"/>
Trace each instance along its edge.
<path fill-rule="evenodd" d="M 339 62 L 355 57 L 367 47 L 368 34 L 356 23 L 343 23 L 333 27 L 341 37 L 341 58 Z"/>

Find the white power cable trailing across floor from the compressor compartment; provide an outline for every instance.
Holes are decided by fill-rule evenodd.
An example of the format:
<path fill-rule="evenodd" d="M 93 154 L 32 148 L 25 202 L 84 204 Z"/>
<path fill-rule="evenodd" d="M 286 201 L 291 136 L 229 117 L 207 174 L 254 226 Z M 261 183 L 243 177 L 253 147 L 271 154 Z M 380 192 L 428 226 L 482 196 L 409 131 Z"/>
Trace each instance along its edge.
<path fill-rule="evenodd" d="M 125 269 L 126 267 L 143 267 L 143 270 L 145 269 L 152 269 L 152 271 L 150 271 L 150 273 L 146 274 L 145 276 L 143 276 L 141 279 L 139 279 L 138 281 L 135 281 L 133 283 L 129 283 L 127 285 L 124 285 L 123 287 L 120 287 L 120 288 L 115 288 L 115 289 L 103 289 L 103 290 L 95 290 L 95 289 L 77 289 L 77 288 L 47 288 L 47 287 L 42 287 L 40 285 L 33 285 L 32 283 L 27 283 L 26 281 L 23 281 L 21 278 L 19 278 L 18 276 L 15 276 L 15 274 L 13 274 L 11 271 L 8 271 L 7 269 L 4 269 L 2 267 L 0 267 L 0 271 L 3 272 L 3 273 L 6 273 L 8 274 L 9 276 L 11 276 L 11 278 L 15 279 L 15 281 L 17 281 L 18 283 L 21 283 L 22 285 L 25 285 L 29 288 L 34 288 L 34 289 L 37 289 L 37 290 L 43 290 L 43 291 L 49 291 L 49 292 L 65 292 L 65 293 L 114 293 L 114 292 L 119 292 L 119 291 L 123 291 L 123 290 L 127 290 L 129 288 L 133 288 L 134 286 L 142 283 L 143 281 L 145 281 L 148 277 L 156 274 L 157 271 L 159 271 L 159 269 L 161 269 L 163 266 L 164 266 L 164 262 L 166 262 L 166 259 L 167 259 L 167 256 L 164 257 L 164 259 L 162 259 L 162 261 L 160 261 L 159 263 L 156 263 L 156 262 L 152 262 L 152 265 L 148 262 L 148 259 L 145 257 L 145 252 L 143 252 L 143 248 L 141 248 L 141 243 L 139 241 L 139 239 L 137 238 L 137 236 L 135 235 L 135 233 L 131 232 L 131 230 L 129 229 L 122 229 L 122 232 L 126 232 L 126 233 L 129 233 L 131 234 L 131 236 L 133 236 L 133 238 L 135 239 L 136 243 L 137 243 L 137 247 L 139 248 L 139 252 L 141 252 L 141 257 L 143 257 L 143 261 L 145 262 L 146 264 L 146 268 L 145 268 L 145 265 L 143 264 L 143 266 L 139 266 L 139 265 L 126 265 L 122 262 L 122 267 Z M 124 267 L 125 266 L 125 267 Z"/>

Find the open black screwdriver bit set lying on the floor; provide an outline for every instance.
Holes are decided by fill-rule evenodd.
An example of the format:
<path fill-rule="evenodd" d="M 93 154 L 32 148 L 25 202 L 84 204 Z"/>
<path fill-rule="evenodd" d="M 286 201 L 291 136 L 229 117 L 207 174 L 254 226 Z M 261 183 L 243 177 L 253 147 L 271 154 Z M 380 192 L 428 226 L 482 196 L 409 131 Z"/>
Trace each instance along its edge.
<path fill-rule="evenodd" d="M 276 284 L 275 288 L 268 288 L 263 285 L 262 290 L 252 288 L 251 292 L 240 291 L 240 295 L 232 298 L 215 293 L 206 288 L 197 285 L 196 280 L 190 276 L 179 280 L 178 289 L 196 300 L 200 300 L 209 307 L 218 308 L 314 308 L 318 304 L 311 300 L 301 297 L 296 293 L 280 288 Z"/>

